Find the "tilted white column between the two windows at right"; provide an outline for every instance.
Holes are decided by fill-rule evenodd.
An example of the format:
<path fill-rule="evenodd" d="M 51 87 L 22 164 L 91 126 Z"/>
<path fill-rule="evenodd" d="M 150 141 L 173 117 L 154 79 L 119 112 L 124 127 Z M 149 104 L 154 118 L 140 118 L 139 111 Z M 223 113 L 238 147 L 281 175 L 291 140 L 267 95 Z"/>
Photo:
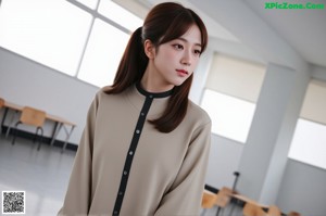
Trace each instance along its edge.
<path fill-rule="evenodd" d="M 275 204 L 281 182 L 309 76 L 298 80 L 298 72 L 268 64 L 240 158 L 237 189 L 263 204 Z"/>

